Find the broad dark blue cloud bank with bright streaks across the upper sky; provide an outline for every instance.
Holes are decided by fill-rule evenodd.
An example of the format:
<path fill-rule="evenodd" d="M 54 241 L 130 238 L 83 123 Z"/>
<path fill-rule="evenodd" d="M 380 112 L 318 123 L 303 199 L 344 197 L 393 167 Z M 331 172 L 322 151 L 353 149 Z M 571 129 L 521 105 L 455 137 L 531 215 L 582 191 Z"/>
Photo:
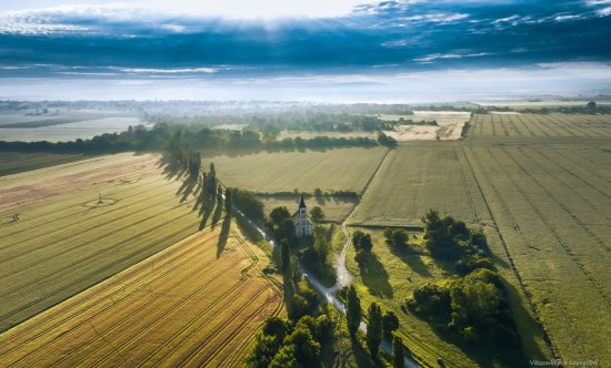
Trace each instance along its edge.
<path fill-rule="evenodd" d="M 83 1 L 0 12 L 0 63 L 13 68 L 0 76 L 222 79 L 611 61 L 611 0 L 266 0 L 257 11 L 280 7 L 266 19 L 238 17 L 253 11 L 238 0 L 192 9 L 182 0 L 147 9 Z M 282 18 L 289 8 L 292 18 Z"/>

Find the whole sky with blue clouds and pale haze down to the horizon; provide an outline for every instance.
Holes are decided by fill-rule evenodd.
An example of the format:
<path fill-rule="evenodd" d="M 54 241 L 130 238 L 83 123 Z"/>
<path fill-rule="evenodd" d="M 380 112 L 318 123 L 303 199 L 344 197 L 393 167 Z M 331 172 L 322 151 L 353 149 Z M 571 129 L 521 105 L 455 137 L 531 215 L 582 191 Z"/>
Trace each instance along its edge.
<path fill-rule="evenodd" d="M 611 0 L 2 0 L 0 99 L 609 94 Z"/>

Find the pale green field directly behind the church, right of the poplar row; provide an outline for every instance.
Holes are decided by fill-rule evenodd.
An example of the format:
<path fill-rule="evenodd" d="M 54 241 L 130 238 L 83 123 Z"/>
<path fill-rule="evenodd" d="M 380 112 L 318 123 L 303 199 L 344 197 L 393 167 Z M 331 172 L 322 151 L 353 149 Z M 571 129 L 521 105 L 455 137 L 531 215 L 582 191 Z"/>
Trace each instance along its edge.
<path fill-rule="evenodd" d="M 208 171 L 213 162 L 224 185 L 253 192 L 360 192 L 385 152 L 375 147 L 219 155 L 203 160 L 203 167 Z"/>

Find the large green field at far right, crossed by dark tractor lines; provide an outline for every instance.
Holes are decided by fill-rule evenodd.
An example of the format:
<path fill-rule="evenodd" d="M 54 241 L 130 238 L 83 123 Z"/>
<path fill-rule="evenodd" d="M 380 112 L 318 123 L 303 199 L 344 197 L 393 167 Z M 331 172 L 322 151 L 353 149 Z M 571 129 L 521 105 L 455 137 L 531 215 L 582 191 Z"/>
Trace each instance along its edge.
<path fill-rule="evenodd" d="M 553 144 L 464 151 L 560 356 L 609 361 L 609 154 Z"/>

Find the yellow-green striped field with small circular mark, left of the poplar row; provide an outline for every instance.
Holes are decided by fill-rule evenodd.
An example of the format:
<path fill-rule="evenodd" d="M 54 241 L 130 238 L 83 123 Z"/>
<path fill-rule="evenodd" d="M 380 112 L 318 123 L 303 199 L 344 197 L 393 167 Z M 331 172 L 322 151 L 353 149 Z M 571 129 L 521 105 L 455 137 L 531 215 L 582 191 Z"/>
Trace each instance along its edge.
<path fill-rule="evenodd" d="M 189 187 L 159 165 L 120 154 L 0 177 L 0 330 L 198 231 Z"/>

